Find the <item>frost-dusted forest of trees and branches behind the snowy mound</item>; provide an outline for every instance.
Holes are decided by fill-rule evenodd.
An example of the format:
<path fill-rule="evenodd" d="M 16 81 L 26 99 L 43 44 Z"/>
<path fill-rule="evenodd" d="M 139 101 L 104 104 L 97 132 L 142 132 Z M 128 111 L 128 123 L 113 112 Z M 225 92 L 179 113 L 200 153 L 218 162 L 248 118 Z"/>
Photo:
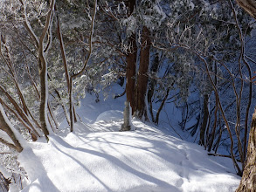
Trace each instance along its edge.
<path fill-rule="evenodd" d="M 235 1 L 3 0 L 0 6 L 4 168 L 20 175 L 24 143 L 48 141 L 62 120 L 73 132 L 86 93 L 100 102 L 99 94 L 109 96 L 119 83 L 125 92 L 114 98 L 127 97 L 135 118 L 157 125 L 163 109 L 175 105 L 182 113 L 176 128 L 209 154 L 232 158 L 243 174 L 255 106 L 255 20 Z M 171 126 L 168 113 L 164 119 Z"/>

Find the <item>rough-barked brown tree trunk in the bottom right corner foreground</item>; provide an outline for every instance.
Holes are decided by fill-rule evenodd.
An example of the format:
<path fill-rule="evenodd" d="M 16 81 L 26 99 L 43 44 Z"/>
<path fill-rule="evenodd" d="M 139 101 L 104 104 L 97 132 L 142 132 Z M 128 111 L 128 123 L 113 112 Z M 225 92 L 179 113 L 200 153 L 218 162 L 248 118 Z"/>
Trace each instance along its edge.
<path fill-rule="evenodd" d="M 256 191 L 256 108 L 253 113 L 251 131 L 247 147 L 246 167 L 236 192 Z"/>

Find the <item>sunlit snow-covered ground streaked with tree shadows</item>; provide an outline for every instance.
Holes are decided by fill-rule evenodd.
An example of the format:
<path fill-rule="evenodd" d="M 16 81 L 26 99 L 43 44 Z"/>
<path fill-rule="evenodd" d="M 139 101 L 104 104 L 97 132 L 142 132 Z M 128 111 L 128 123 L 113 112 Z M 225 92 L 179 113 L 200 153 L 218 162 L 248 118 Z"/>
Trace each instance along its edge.
<path fill-rule="evenodd" d="M 239 176 L 232 160 L 208 156 L 161 127 L 133 120 L 118 132 L 123 100 L 82 102 L 74 132 L 60 130 L 50 141 L 31 143 L 18 161 L 28 173 L 22 191 L 234 191 Z M 66 127 L 65 122 L 60 127 Z"/>

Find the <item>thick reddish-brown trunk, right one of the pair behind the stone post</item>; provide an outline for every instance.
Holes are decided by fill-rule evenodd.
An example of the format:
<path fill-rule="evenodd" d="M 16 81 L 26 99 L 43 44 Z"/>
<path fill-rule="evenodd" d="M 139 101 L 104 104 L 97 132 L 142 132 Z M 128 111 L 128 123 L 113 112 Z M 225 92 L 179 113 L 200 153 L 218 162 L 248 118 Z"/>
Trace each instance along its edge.
<path fill-rule="evenodd" d="M 146 109 L 146 93 L 148 90 L 149 54 L 150 54 L 150 31 L 146 26 L 142 29 L 142 48 L 140 58 L 140 68 L 137 76 L 135 88 L 135 115 L 142 119 L 148 119 Z"/>

